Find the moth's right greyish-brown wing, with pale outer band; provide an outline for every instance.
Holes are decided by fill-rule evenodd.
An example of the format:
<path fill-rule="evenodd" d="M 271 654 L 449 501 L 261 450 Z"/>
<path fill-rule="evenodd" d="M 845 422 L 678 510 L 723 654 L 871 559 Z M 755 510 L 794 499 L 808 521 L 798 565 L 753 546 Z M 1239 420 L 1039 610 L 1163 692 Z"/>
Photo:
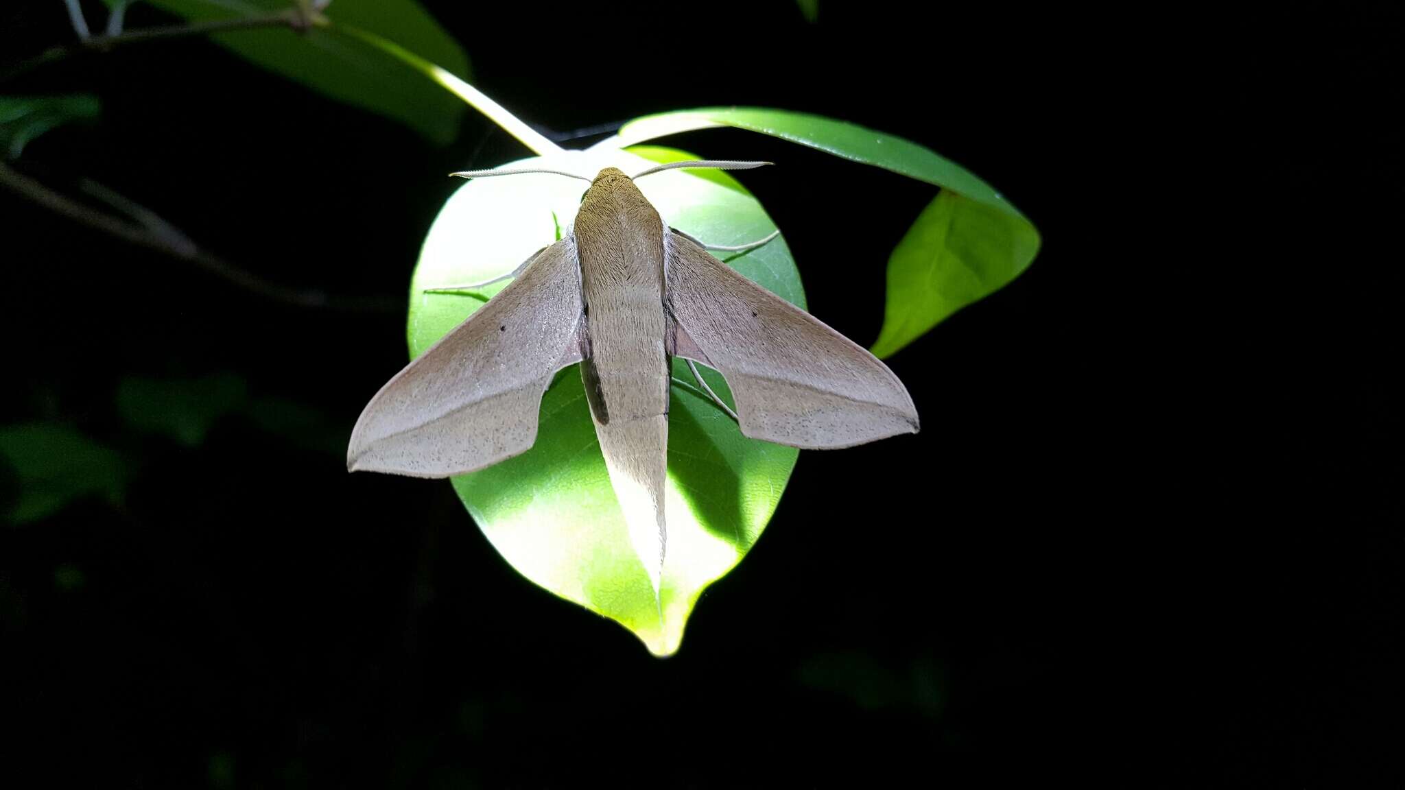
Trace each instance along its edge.
<path fill-rule="evenodd" d="M 917 432 L 888 365 L 679 233 L 665 242 L 676 353 L 732 388 L 742 433 L 825 450 Z"/>

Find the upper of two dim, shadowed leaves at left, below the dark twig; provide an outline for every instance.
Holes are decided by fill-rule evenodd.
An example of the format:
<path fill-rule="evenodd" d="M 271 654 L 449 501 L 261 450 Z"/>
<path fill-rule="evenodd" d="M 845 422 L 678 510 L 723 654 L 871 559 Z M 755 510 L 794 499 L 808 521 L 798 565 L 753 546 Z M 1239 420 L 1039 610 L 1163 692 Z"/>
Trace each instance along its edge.
<path fill-rule="evenodd" d="M 128 377 L 117 387 L 117 410 L 138 430 L 195 447 L 246 396 L 244 380 L 232 373 L 194 380 Z"/>

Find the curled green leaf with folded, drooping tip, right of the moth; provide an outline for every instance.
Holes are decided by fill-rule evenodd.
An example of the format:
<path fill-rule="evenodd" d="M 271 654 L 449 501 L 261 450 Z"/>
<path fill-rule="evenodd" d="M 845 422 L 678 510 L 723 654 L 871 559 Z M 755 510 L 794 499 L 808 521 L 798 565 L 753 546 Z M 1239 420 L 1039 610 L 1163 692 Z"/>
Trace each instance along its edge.
<path fill-rule="evenodd" d="M 1034 225 L 971 171 L 915 142 L 833 118 L 766 108 L 683 110 L 631 121 L 596 148 L 712 127 L 771 135 L 941 187 L 888 261 L 888 302 L 873 346 L 880 357 L 999 291 L 1038 253 Z"/>

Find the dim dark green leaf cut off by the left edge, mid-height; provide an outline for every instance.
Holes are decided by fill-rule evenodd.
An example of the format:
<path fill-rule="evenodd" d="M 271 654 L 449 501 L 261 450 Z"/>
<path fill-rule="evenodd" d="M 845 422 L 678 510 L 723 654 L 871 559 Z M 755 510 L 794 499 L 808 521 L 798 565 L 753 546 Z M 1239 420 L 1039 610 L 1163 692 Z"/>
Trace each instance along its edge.
<path fill-rule="evenodd" d="M 0 427 L 0 458 L 20 478 L 20 499 L 7 513 L 17 524 L 44 519 L 83 496 L 121 502 L 126 484 L 126 468 L 115 450 L 56 425 Z"/>

